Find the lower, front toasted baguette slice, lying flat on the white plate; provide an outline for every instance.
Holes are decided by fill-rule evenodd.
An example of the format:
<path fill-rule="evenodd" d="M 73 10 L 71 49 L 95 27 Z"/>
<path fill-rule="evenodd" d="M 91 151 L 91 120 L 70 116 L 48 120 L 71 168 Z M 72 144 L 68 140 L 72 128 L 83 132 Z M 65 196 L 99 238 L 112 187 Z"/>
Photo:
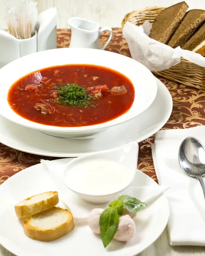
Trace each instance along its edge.
<path fill-rule="evenodd" d="M 72 213 L 59 207 L 37 213 L 23 223 L 26 236 L 39 241 L 56 240 L 73 229 Z"/>

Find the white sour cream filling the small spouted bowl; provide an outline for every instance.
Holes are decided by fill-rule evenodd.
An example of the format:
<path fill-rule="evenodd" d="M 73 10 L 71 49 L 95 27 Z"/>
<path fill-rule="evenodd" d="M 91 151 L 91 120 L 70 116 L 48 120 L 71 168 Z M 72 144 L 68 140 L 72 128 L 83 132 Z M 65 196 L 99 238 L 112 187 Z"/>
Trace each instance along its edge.
<path fill-rule="evenodd" d="M 67 173 L 69 187 L 89 195 L 115 193 L 128 185 L 129 172 L 112 160 L 93 159 L 77 163 Z"/>

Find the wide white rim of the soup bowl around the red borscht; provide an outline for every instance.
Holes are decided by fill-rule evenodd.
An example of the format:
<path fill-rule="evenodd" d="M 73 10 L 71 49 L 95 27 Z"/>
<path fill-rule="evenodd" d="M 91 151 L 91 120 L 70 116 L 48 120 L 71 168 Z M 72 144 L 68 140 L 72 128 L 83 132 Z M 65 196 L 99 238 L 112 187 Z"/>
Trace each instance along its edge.
<path fill-rule="evenodd" d="M 17 123 L 19 125 L 23 125 L 25 127 L 33 128 L 33 129 L 37 129 L 37 130 L 41 130 L 41 131 L 83 133 L 83 132 L 86 132 L 86 131 L 90 131 L 90 132 L 93 131 L 94 132 L 94 131 L 99 130 L 99 129 L 103 130 L 103 129 L 109 128 L 111 126 L 115 126 L 115 125 L 119 125 L 119 124 L 121 124 L 123 122 L 127 122 L 128 120 L 131 120 L 134 117 L 138 116 L 140 113 L 144 112 L 152 104 L 152 102 L 154 101 L 154 99 L 155 99 L 155 97 L 157 95 L 157 82 L 156 82 L 153 74 L 151 73 L 151 71 L 149 71 L 145 66 L 143 66 L 142 64 L 140 64 L 139 62 L 135 61 L 132 58 L 128 58 L 127 56 L 120 55 L 120 54 L 117 54 L 117 53 L 114 53 L 114 52 L 102 51 L 102 50 L 99 50 L 99 49 L 60 48 L 60 49 L 51 49 L 51 50 L 46 50 L 46 51 L 41 51 L 41 52 L 35 52 L 35 53 L 30 54 L 30 55 L 26 55 L 26 56 L 24 56 L 22 58 L 19 58 L 19 59 L 15 60 L 15 61 L 12 61 L 11 63 L 9 63 L 6 66 L 4 66 L 2 69 L 0 69 L 0 76 L 2 77 L 2 81 L 3 81 L 3 79 L 5 79 L 5 81 L 3 81 L 4 84 L 5 84 L 6 79 L 8 79 L 8 77 L 6 77 L 6 74 L 8 74 L 10 70 L 15 70 L 16 66 L 19 66 L 19 67 L 23 67 L 24 66 L 25 67 L 26 63 L 29 63 L 29 62 L 32 62 L 32 61 L 35 62 L 35 60 L 37 58 L 40 58 L 40 57 L 41 58 L 46 58 L 46 56 L 47 56 L 47 58 L 48 58 L 50 55 L 53 55 L 53 58 L 55 56 L 59 57 L 60 54 L 61 54 L 61 58 L 65 58 L 65 56 L 67 56 L 67 55 L 69 57 L 69 53 L 71 53 L 71 52 L 78 53 L 79 55 L 82 55 L 82 54 L 85 55 L 85 53 L 87 53 L 88 55 L 89 54 L 90 55 L 95 55 L 95 58 L 96 58 L 96 56 L 98 56 L 99 59 L 100 59 L 101 56 L 105 56 L 106 58 L 114 59 L 114 61 L 116 61 L 116 63 L 123 62 L 124 65 L 126 64 L 125 67 L 124 67 L 125 70 L 127 68 L 126 72 L 128 72 L 128 73 L 130 72 L 130 74 L 132 73 L 131 76 L 133 76 L 133 77 L 136 76 L 135 74 L 136 74 L 137 68 L 140 69 L 139 74 L 140 73 L 145 73 L 145 76 L 144 76 L 143 80 L 146 80 L 145 84 L 151 84 L 151 86 L 148 85 L 148 87 L 149 87 L 149 89 L 152 90 L 152 93 L 150 93 L 148 90 L 146 91 L 146 93 L 148 93 L 148 98 L 146 97 L 146 99 L 144 101 L 145 106 L 143 108 L 141 108 L 140 112 L 136 113 L 134 111 L 134 105 L 137 102 L 137 98 L 136 98 L 136 91 L 137 90 L 135 88 L 134 89 L 135 90 L 134 102 L 133 102 L 131 108 L 126 113 L 122 114 L 121 116 L 117 117 L 116 119 L 113 119 L 113 120 L 110 120 L 108 122 L 104 122 L 104 123 L 101 123 L 101 124 L 97 124 L 97 125 L 89 125 L 89 126 L 81 126 L 81 127 L 57 127 L 57 126 L 50 126 L 50 125 L 42 125 L 42 124 L 39 124 L 37 122 L 32 122 L 30 120 L 27 120 L 27 119 L 19 116 L 17 113 L 15 113 L 11 109 L 11 107 L 9 106 L 9 103 L 7 102 L 7 100 L 6 100 L 6 102 L 7 102 L 6 108 L 8 108 L 8 106 L 9 106 L 9 109 L 10 109 L 10 111 L 12 113 L 10 112 L 11 114 L 10 113 L 8 114 L 8 112 L 5 111 L 5 109 L 4 109 L 5 105 L 1 106 L 1 104 L 2 104 L 1 102 L 2 101 L 0 101 L 0 114 L 2 116 L 4 116 L 5 118 L 9 119 L 11 122 L 15 122 L 15 123 Z M 49 61 L 51 61 L 51 60 L 49 60 L 49 58 L 48 58 L 48 60 L 46 60 L 46 61 L 48 61 L 46 65 L 45 64 L 44 65 L 40 64 L 39 61 L 38 61 L 38 64 L 37 64 L 38 68 L 32 68 L 30 70 L 30 72 L 26 72 L 24 75 L 17 76 L 18 78 L 15 79 L 13 81 L 13 83 L 15 81 L 17 81 L 18 79 L 20 79 L 22 76 L 26 76 L 26 74 L 28 74 L 28 73 L 31 73 L 31 72 L 34 72 L 34 71 L 37 71 L 37 70 L 41 70 L 41 69 L 46 68 L 46 67 L 54 67 L 54 66 L 65 65 L 65 64 L 93 64 L 93 65 L 97 65 L 97 66 L 100 65 L 100 66 L 103 66 L 103 67 L 108 67 L 110 69 L 115 70 L 114 67 L 109 67 L 110 62 L 109 62 L 109 64 L 100 64 L 100 63 L 96 64 L 96 63 L 91 63 L 89 61 L 88 61 L 88 63 L 87 62 L 85 63 L 85 61 L 83 61 L 83 62 L 80 62 L 80 61 L 69 62 L 68 59 L 67 59 L 66 62 L 65 62 L 65 60 L 59 62 L 59 60 L 58 60 L 58 62 L 55 62 L 55 64 L 52 64 L 52 63 L 49 64 Z M 100 61 L 102 61 L 102 60 L 100 60 Z M 95 62 L 95 61 L 93 61 L 93 62 Z M 128 63 L 129 63 L 129 65 L 128 65 Z M 114 64 L 111 64 L 111 65 L 114 65 Z M 132 70 L 133 72 L 128 71 L 128 70 L 131 70 L 131 69 L 133 69 Z M 116 69 L 116 71 L 118 71 L 118 72 L 124 74 L 125 76 L 127 76 L 125 74 L 126 72 L 123 73 L 123 72 L 121 72 L 121 71 L 119 71 L 117 69 Z M 135 73 L 134 73 L 134 71 L 135 71 Z M 129 76 L 127 76 L 127 77 L 130 79 Z M 140 75 L 139 75 L 139 77 L 140 77 Z M 130 79 L 130 80 L 131 80 L 131 82 L 133 82 L 132 79 Z M 6 89 L 6 95 L 8 94 L 8 91 L 9 91 L 9 89 L 10 89 L 12 84 L 10 84 L 8 86 L 9 88 Z M 134 87 L 135 87 L 135 85 L 134 85 Z M 141 85 L 141 87 L 143 87 L 143 86 Z M 142 88 L 140 90 L 144 90 L 144 89 Z M 139 98 L 138 98 L 138 100 L 139 100 Z"/>

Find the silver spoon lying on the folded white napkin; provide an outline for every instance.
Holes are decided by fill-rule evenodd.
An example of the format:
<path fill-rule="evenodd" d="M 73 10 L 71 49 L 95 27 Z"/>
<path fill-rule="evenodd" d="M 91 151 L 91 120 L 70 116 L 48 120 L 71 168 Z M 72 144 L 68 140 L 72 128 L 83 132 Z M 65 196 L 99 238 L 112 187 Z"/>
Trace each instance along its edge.
<path fill-rule="evenodd" d="M 205 147 L 194 137 L 186 137 L 179 147 L 179 165 L 191 177 L 197 177 L 204 193 Z"/>

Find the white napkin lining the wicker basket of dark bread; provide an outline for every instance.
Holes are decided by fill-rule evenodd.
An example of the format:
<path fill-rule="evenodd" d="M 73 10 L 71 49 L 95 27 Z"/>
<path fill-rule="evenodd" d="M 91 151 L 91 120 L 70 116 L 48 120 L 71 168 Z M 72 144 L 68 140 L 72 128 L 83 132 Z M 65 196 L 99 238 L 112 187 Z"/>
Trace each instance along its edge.
<path fill-rule="evenodd" d="M 181 57 L 205 67 L 205 58 L 202 55 L 183 50 L 180 47 L 173 49 L 166 44 L 149 38 L 145 32 L 149 34 L 151 24 L 146 22 L 143 25 L 135 26 L 130 22 L 126 22 L 122 32 L 128 43 L 132 58 L 142 63 L 149 70 L 160 71 L 168 69 L 179 64 Z"/>

